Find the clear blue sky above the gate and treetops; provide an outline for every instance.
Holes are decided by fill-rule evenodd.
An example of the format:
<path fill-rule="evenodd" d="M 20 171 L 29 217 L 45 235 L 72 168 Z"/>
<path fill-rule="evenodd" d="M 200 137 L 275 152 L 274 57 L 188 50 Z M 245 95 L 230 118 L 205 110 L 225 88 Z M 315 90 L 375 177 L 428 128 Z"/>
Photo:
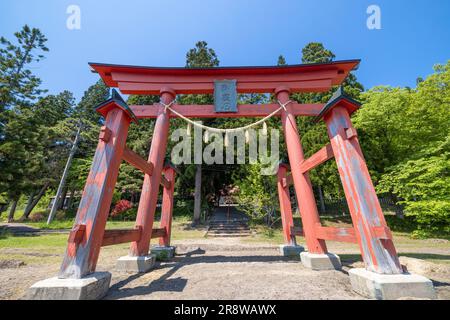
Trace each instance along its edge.
<path fill-rule="evenodd" d="M 66 27 L 69 5 L 81 9 L 81 30 Z M 381 30 L 366 27 L 369 5 L 381 8 Z M 300 63 L 301 48 L 318 41 L 336 59 L 362 59 L 358 79 L 414 86 L 450 59 L 449 0 L 2 0 L 0 35 L 25 23 L 49 39 L 33 71 L 50 93 L 80 98 L 98 75 L 87 63 L 184 66 L 205 40 L 222 66 L 274 65 L 280 54 Z"/>

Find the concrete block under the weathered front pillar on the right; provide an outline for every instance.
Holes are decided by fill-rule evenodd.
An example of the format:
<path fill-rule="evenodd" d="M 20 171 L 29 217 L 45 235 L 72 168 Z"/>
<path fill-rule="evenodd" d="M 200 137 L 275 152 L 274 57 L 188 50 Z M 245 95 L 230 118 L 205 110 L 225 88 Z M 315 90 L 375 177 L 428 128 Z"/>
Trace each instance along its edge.
<path fill-rule="evenodd" d="M 348 272 L 353 290 L 362 296 L 378 300 L 400 298 L 435 299 L 431 280 L 415 274 L 378 274 L 363 268 Z"/>

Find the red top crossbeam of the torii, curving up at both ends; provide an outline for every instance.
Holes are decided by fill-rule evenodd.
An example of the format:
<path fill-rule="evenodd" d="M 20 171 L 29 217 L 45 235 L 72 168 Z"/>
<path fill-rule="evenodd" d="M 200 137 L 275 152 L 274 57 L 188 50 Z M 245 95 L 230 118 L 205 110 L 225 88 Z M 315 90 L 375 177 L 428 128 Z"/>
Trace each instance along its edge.
<path fill-rule="evenodd" d="M 124 94 L 159 94 L 169 87 L 177 94 L 214 92 L 214 81 L 237 81 L 238 93 L 273 93 L 284 85 L 291 92 L 324 92 L 340 85 L 360 60 L 267 67 L 161 68 L 89 63 L 109 87 Z"/>

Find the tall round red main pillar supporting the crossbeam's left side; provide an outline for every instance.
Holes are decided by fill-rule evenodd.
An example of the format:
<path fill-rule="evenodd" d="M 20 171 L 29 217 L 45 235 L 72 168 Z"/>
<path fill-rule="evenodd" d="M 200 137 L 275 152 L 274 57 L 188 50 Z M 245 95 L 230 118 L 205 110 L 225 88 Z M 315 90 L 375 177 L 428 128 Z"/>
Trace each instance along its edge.
<path fill-rule="evenodd" d="M 175 92 L 169 88 L 161 89 L 161 101 L 170 104 L 175 99 Z M 166 155 L 167 139 L 169 135 L 169 110 L 160 107 L 153 131 L 152 145 L 150 147 L 149 162 L 153 163 L 152 175 L 145 175 L 142 185 L 141 199 L 136 218 L 136 227 L 142 228 L 139 241 L 131 243 L 131 256 L 148 255 L 150 239 L 152 236 L 153 221 L 155 217 L 156 204 L 158 201 L 159 185 Z"/>

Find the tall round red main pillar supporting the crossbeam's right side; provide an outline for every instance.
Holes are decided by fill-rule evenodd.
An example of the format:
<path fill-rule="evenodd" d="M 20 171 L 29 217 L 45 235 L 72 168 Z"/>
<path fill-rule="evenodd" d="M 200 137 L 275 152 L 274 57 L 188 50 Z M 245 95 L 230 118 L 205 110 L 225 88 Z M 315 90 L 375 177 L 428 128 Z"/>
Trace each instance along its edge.
<path fill-rule="evenodd" d="M 278 100 L 283 104 L 289 101 L 289 92 L 289 88 L 286 87 L 280 87 L 275 90 Z M 303 174 L 300 170 L 300 164 L 305 158 L 295 116 L 292 114 L 290 105 L 287 105 L 286 110 L 282 111 L 281 121 L 308 251 L 315 254 L 327 253 L 325 241 L 318 239 L 316 236 L 315 227 L 316 224 L 320 223 L 319 212 L 309 175 L 308 173 Z"/>

